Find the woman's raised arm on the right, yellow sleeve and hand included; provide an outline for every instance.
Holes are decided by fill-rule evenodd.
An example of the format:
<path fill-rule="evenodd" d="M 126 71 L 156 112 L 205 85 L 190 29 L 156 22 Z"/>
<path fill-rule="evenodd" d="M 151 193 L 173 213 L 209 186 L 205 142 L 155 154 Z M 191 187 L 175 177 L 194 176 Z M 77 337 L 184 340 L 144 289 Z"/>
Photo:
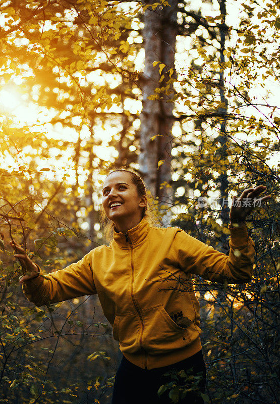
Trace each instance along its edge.
<path fill-rule="evenodd" d="M 229 256 L 183 231 L 178 231 L 174 242 L 182 269 L 210 281 L 224 282 L 227 280 L 229 283 L 250 281 L 253 275 L 255 244 L 248 235 L 245 219 L 256 206 L 269 199 L 269 195 L 258 198 L 265 188 L 262 185 L 248 188 L 242 192 L 239 198 L 234 198 L 230 211 Z M 248 205 L 250 200 L 251 204 Z"/>

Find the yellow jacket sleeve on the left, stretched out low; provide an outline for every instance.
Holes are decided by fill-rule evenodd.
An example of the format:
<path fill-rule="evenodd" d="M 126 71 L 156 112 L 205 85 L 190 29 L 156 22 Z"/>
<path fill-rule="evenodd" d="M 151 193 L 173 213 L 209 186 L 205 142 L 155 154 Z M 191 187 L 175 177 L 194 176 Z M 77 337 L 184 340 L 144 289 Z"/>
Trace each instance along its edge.
<path fill-rule="evenodd" d="M 91 268 L 91 255 L 92 251 L 77 263 L 48 275 L 43 275 L 38 267 L 39 275 L 23 282 L 24 295 L 36 306 L 42 306 L 97 293 Z"/>

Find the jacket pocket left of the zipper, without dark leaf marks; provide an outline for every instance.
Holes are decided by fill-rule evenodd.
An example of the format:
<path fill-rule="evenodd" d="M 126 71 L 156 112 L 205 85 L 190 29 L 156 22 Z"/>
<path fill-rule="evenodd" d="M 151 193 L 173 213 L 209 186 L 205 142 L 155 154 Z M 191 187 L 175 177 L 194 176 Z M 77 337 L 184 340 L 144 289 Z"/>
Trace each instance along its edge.
<path fill-rule="evenodd" d="M 116 314 L 113 324 L 113 336 L 120 342 L 123 352 L 134 354 L 139 350 L 141 324 L 135 313 Z"/>

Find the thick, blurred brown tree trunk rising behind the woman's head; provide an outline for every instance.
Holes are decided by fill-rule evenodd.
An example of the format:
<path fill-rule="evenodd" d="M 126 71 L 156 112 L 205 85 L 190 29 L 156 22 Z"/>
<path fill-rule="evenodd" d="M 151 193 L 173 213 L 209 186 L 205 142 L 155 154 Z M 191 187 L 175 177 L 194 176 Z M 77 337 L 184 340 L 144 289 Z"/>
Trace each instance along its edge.
<path fill-rule="evenodd" d="M 149 4 L 147 0 L 145 3 Z M 161 184 L 171 182 L 171 140 L 173 118 L 173 103 L 166 101 L 174 95 L 160 94 L 162 99 L 150 100 L 156 87 L 162 87 L 169 80 L 167 70 L 174 68 L 175 45 L 177 35 L 177 5 L 175 0 L 169 1 L 171 7 L 148 8 L 144 15 L 145 27 L 143 39 L 145 48 L 145 70 L 142 80 L 143 108 L 140 115 L 140 174 L 147 188 L 153 196 L 158 196 L 160 203 L 171 203 L 171 188 Z M 158 65 L 153 67 L 154 61 L 164 63 L 162 70 L 165 79 L 159 83 Z M 171 90 L 173 86 L 171 84 Z M 151 140 L 152 136 L 157 136 Z M 158 169 L 158 162 L 164 163 Z"/>

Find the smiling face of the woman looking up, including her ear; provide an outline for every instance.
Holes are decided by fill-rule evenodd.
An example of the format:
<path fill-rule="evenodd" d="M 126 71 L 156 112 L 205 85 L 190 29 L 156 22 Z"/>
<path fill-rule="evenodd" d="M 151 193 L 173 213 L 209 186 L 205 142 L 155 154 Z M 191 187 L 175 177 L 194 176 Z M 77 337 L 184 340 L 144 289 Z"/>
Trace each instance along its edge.
<path fill-rule="evenodd" d="M 147 199 L 139 196 L 130 173 L 116 171 L 109 174 L 103 183 L 102 195 L 105 214 L 117 228 L 123 221 L 140 223 Z"/>

